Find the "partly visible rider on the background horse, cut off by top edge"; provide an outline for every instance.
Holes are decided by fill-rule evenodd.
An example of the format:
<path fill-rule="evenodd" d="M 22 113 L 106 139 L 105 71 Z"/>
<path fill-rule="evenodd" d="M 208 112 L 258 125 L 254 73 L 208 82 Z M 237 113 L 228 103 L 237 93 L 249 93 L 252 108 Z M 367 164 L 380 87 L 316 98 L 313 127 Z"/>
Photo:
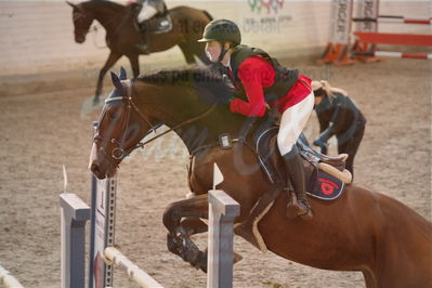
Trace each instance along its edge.
<path fill-rule="evenodd" d="M 141 26 L 147 19 L 150 19 L 157 13 L 162 13 L 165 11 L 166 4 L 163 0 L 130 0 L 129 3 L 140 3 L 141 10 L 136 16 L 139 26 Z M 141 49 L 144 53 L 149 54 L 149 37 L 148 32 L 144 32 L 144 39 L 142 42 L 138 43 L 136 47 Z"/>

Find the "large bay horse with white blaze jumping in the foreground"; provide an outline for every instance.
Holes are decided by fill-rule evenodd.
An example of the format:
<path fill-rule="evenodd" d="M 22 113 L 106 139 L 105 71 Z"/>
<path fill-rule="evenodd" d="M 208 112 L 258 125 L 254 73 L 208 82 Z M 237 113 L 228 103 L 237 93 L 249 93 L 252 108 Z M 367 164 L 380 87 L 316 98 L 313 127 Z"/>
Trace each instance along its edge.
<path fill-rule="evenodd" d="M 257 200 L 273 188 L 245 144 L 209 145 L 221 134 L 238 135 L 247 120 L 230 112 L 231 92 L 211 75 L 188 68 L 130 81 L 123 71 L 122 80 L 112 73 L 115 89 L 103 107 L 89 163 L 97 178 L 113 176 L 148 130 L 159 123 L 172 128 L 193 155 L 188 181 L 196 197 L 167 208 L 168 247 L 202 270 L 207 256 L 189 235 L 206 231 L 198 218 L 208 217 L 213 162 L 224 174 L 218 188 L 240 204 L 236 223 L 245 221 Z M 432 224 L 410 208 L 350 184 L 338 200 L 310 198 L 312 220 L 289 220 L 286 197 L 280 194 L 258 224 L 269 250 L 317 269 L 359 271 L 368 288 L 432 287 Z"/>

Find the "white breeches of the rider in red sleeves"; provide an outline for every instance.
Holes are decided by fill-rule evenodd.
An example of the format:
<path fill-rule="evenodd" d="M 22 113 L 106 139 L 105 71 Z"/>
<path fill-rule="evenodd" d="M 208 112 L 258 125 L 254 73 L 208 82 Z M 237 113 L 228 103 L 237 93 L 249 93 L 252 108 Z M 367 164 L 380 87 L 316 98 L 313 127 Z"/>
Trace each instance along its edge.
<path fill-rule="evenodd" d="M 277 134 L 277 146 L 280 155 L 285 155 L 292 149 L 293 144 L 306 126 L 307 119 L 314 108 L 314 92 L 292 107 L 286 109 L 280 119 L 279 133 Z"/>

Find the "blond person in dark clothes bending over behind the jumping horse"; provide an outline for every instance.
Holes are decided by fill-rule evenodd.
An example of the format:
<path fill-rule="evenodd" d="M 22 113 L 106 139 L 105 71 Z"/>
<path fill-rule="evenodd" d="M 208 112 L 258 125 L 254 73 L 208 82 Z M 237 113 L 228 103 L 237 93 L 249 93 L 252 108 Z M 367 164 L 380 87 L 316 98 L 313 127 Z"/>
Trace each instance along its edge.
<path fill-rule="evenodd" d="M 366 118 L 342 89 L 327 81 L 312 81 L 315 94 L 315 110 L 319 121 L 319 136 L 313 142 L 327 154 L 327 141 L 336 135 L 338 153 L 346 153 L 346 169 L 354 176 L 354 156 L 365 132 Z"/>

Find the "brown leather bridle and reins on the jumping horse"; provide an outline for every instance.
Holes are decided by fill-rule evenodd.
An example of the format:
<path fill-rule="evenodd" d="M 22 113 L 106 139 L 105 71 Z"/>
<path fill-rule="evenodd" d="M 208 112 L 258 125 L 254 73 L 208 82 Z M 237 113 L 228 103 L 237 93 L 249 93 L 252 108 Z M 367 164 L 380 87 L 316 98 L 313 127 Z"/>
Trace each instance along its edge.
<path fill-rule="evenodd" d="M 112 139 L 110 139 L 110 142 L 112 142 L 113 144 L 116 144 L 116 145 L 117 145 L 117 147 L 115 147 L 115 148 L 112 150 L 112 155 L 108 155 L 108 154 L 106 153 L 106 150 L 105 150 L 104 148 L 102 148 L 102 153 L 108 158 L 108 161 L 109 161 L 112 165 L 115 165 L 115 161 L 116 161 L 116 160 L 122 160 L 125 157 L 129 156 L 134 149 L 136 149 L 136 148 L 143 148 L 146 144 L 148 144 L 148 143 L 155 141 L 156 139 L 158 139 L 158 138 L 160 138 L 160 136 L 166 135 L 167 133 L 169 133 L 169 132 L 171 132 L 171 131 L 173 131 L 173 130 L 176 130 L 176 129 L 179 129 L 179 128 L 181 128 L 181 127 L 183 127 L 183 126 L 189 125 L 189 123 L 195 122 L 195 121 L 197 121 L 197 120 L 199 120 L 199 119 L 201 119 L 201 118 L 207 117 L 207 116 L 208 116 L 210 113 L 212 113 L 212 112 L 214 110 L 214 108 L 218 106 L 218 103 L 215 103 L 215 104 L 212 105 L 209 109 L 207 109 L 204 114 L 200 114 L 200 115 L 198 115 L 198 116 L 196 116 L 196 117 L 189 118 L 189 119 L 187 119 L 187 120 L 185 120 L 185 121 L 183 121 L 183 122 L 181 122 L 181 123 L 179 123 L 179 125 L 176 125 L 176 126 L 174 126 L 174 127 L 172 127 L 172 128 L 170 128 L 170 129 L 163 131 L 162 133 L 153 136 L 152 139 L 149 139 L 149 140 L 147 140 L 147 141 L 145 141 L 145 142 L 140 142 L 140 143 L 138 143 L 134 147 L 130 148 L 130 149 L 127 152 L 127 149 L 125 148 L 125 143 L 126 143 L 126 135 L 127 135 L 127 131 L 128 131 L 128 128 L 129 128 L 129 122 L 130 122 L 130 116 L 131 116 L 131 110 L 132 110 L 132 108 L 133 108 L 133 109 L 140 115 L 140 117 L 150 127 L 149 132 L 156 133 L 156 130 L 157 130 L 161 125 L 160 125 L 160 123 L 153 125 L 153 123 L 148 120 L 148 118 L 147 118 L 147 117 L 139 109 L 139 107 L 135 105 L 135 103 L 134 103 L 133 100 L 132 100 L 132 94 L 133 94 L 133 84 L 132 84 L 132 81 L 131 81 L 130 79 L 128 79 L 128 80 L 122 80 L 121 83 L 123 84 L 123 88 L 125 88 L 125 86 L 126 86 L 126 91 L 127 91 L 126 95 L 115 96 L 115 97 L 110 97 L 110 99 L 105 100 L 105 104 L 113 103 L 113 102 L 117 102 L 117 101 L 125 102 L 125 100 L 126 100 L 126 103 L 125 103 L 125 107 L 126 107 L 126 115 L 125 115 L 125 117 L 126 117 L 126 119 L 125 119 L 125 121 L 123 121 L 122 133 L 121 133 L 121 140 L 119 141 L 119 140 L 115 139 L 115 138 L 112 138 Z M 105 115 L 104 115 L 103 117 L 105 117 Z M 101 119 L 101 122 L 102 122 L 102 120 L 103 120 L 103 118 Z M 97 141 L 97 140 L 102 142 L 102 141 L 103 141 L 103 138 L 102 138 L 101 135 L 96 134 L 96 135 L 94 136 L 94 139 L 93 139 L 93 142 L 95 142 L 95 141 Z"/>

